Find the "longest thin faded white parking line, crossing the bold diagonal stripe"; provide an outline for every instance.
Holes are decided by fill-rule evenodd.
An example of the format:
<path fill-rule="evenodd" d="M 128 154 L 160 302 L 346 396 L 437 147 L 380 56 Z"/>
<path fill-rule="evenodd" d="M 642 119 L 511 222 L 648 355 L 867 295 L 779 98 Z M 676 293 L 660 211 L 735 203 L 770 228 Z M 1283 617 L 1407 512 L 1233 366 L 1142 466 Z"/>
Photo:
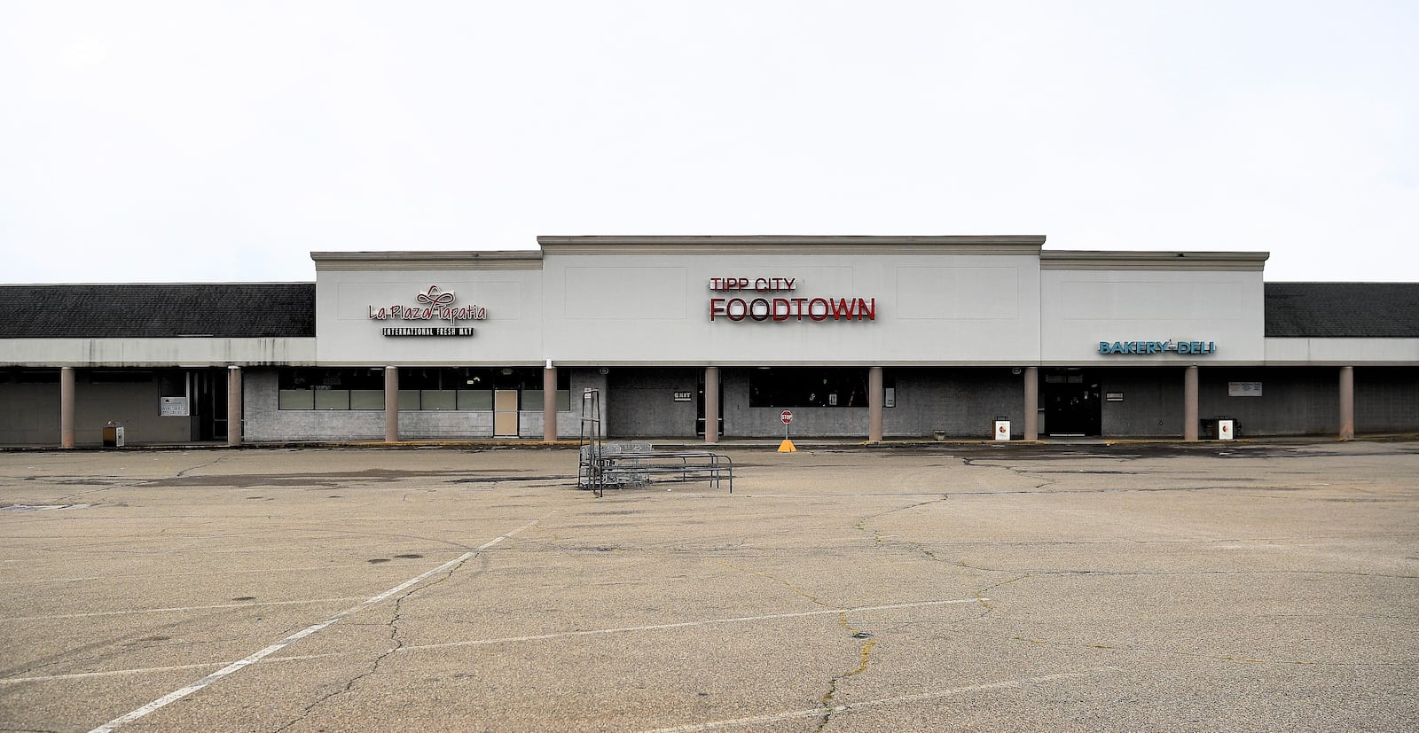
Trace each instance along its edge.
<path fill-rule="evenodd" d="M 738 615 L 731 618 L 702 618 L 698 621 L 680 621 L 674 624 L 650 624 L 643 627 L 613 627 L 613 628 L 592 628 L 582 631 L 558 631 L 551 634 L 534 634 L 525 637 L 494 637 L 487 639 L 465 639 L 465 641 L 448 641 L 441 644 L 412 644 L 407 647 L 400 647 L 393 649 L 397 654 L 407 654 L 426 649 L 447 649 L 450 647 L 488 647 L 494 644 L 517 644 L 524 641 L 546 641 L 559 639 L 570 637 L 595 637 L 600 634 L 630 634 L 636 631 L 660 631 L 671 628 L 692 628 L 692 627 L 710 627 L 715 624 L 742 624 L 748 621 L 773 621 L 779 618 L 803 618 L 813 615 L 829 615 L 829 614 L 857 614 L 864 611 L 893 611 L 898 608 L 928 608 L 932 605 L 959 605 L 968 603 L 982 603 L 990 598 L 954 598 L 945 601 L 915 601 L 915 603 L 894 603 L 884 605 L 856 605 L 851 608 L 822 608 L 817 611 L 792 611 L 785 614 L 762 614 L 762 615 Z M 326 654 L 304 654 L 298 656 L 272 656 L 268 659 L 271 664 L 280 662 L 305 662 L 311 659 L 329 659 L 332 656 L 350 656 L 356 654 L 369 652 L 326 652 Z M 217 666 L 219 662 L 207 664 L 192 664 L 192 665 L 177 665 L 177 666 L 145 666 L 138 669 L 108 669 L 104 672 L 74 672 L 68 675 L 45 675 L 45 676 L 27 676 L 27 678 L 7 678 L 0 679 L 0 686 L 4 685 L 20 685 L 24 682 L 57 682 L 64 679 L 81 679 L 81 678 L 96 678 L 96 676 L 122 676 L 122 675 L 142 675 L 148 672 L 172 672 L 177 669 L 206 669 Z"/>

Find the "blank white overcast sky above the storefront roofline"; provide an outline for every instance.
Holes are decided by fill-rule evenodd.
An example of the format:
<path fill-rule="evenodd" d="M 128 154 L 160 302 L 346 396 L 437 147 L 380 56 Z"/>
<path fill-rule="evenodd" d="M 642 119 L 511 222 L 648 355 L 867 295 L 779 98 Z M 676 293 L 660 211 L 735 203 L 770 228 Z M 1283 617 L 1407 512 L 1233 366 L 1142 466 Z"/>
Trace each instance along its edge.
<path fill-rule="evenodd" d="M 0 3 L 0 282 L 538 234 L 1044 234 L 1419 281 L 1419 3 Z"/>

